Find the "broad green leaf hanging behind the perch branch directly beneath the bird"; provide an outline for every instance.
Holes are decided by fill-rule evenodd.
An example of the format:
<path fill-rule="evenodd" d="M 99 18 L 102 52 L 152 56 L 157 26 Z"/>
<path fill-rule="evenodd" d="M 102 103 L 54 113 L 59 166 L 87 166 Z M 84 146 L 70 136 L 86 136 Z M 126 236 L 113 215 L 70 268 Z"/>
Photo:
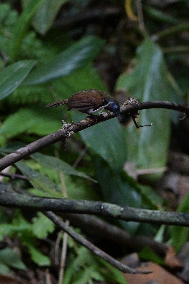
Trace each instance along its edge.
<path fill-rule="evenodd" d="M 72 112 L 73 121 L 82 119 L 83 114 Z M 123 169 L 126 160 L 125 139 L 117 118 L 106 120 L 79 131 L 86 146 L 104 159 L 116 173 Z"/>

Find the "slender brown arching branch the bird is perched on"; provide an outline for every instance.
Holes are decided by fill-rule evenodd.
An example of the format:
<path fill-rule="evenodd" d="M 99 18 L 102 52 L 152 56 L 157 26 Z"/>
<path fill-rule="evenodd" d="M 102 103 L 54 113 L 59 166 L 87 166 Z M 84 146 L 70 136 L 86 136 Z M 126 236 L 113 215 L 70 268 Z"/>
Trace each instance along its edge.
<path fill-rule="evenodd" d="M 121 114 L 129 114 L 129 113 L 135 113 L 138 110 L 142 109 L 148 109 L 148 108 L 167 108 L 172 110 L 177 110 L 180 112 L 183 112 L 186 114 L 186 116 L 189 116 L 189 108 L 186 106 L 179 105 L 177 103 L 170 103 L 166 101 L 152 101 L 152 102 L 143 102 L 143 103 L 131 103 L 129 105 L 121 106 L 120 113 Z M 102 121 L 108 120 L 110 118 L 116 117 L 116 114 L 114 112 L 106 111 L 102 112 L 100 114 L 96 115 L 95 118 L 86 118 L 85 120 L 81 120 L 75 124 L 72 124 L 70 127 L 70 131 L 74 131 L 74 133 L 81 131 L 85 128 L 88 128 L 92 125 L 95 125 L 97 123 L 100 123 Z M 0 159 L 0 171 L 7 168 L 8 166 L 22 160 L 23 158 L 26 158 L 30 156 L 31 154 L 49 146 L 53 143 L 56 143 L 61 140 L 65 140 L 66 135 L 65 132 L 62 130 L 57 130 L 52 134 L 49 134 L 45 137 L 40 138 L 37 141 L 34 141 L 17 151 L 8 154 L 7 156 Z"/>

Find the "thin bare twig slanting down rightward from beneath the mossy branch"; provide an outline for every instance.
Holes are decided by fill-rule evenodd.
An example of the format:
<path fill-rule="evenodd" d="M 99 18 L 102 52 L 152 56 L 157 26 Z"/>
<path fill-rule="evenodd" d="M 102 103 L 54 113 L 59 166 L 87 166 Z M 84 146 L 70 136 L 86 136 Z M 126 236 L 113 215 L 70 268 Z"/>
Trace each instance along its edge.
<path fill-rule="evenodd" d="M 133 268 L 119 262 L 118 260 L 114 259 L 112 256 L 108 255 L 106 252 L 102 251 L 101 249 L 99 249 L 98 247 L 96 247 L 95 245 L 90 243 L 88 240 L 86 240 L 80 234 L 75 232 L 73 229 L 71 229 L 68 225 L 66 225 L 53 212 L 46 211 L 46 212 L 43 212 L 43 213 L 51 221 L 53 221 L 54 224 L 56 224 L 57 227 L 59 227 L 60 229 L 64 230 L 66 233 L 68 233 L 68 235 L 70 235 L 74 240 L 76 240 L 81 245 L 84 245 L 85 247 L 87 247 L 89 250 L 91 250 L 92 252 L 94 252 L 95 254 L 97 254 L 98 256 L 100 256 L 101 258 L 103 258 L 104 260 L 109 262 L 110 264 L 112 264 L 112 266 L 116 267 L 120 271 L 122 271 L 124 273 L 132 273 L 132 274 L 136 274 L 136 273 L 147 274 L 147 273 L 152 272 L 152 271 L 139 271 L 139 270 L 133 269 Z"/>

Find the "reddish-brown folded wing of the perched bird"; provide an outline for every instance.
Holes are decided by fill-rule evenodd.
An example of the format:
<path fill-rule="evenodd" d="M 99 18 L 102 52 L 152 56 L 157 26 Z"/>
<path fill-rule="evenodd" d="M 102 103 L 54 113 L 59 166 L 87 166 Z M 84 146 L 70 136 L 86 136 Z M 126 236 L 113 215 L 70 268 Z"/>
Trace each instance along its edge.
<path fill-rule="evenodd" d="M 75 93 L 70 99 L 68 99 L 67 107 L 79 108 L 79 107 L 93 107 L 98 108 L 104 102 L 104 98 L 99 93 L 94 93 L 93 91 L 78 92 Z"/>

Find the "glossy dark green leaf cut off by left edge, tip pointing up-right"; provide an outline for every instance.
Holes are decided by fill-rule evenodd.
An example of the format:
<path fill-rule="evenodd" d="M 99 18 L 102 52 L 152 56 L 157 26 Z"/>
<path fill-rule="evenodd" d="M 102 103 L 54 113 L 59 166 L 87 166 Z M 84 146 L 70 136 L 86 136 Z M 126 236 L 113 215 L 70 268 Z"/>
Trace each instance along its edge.
<path fill-rule="evenodd" d="M 26 78 L 35 60 L 22 60 L 5 67 L 0 73 L 0 100 L 12 93 Z"/>

